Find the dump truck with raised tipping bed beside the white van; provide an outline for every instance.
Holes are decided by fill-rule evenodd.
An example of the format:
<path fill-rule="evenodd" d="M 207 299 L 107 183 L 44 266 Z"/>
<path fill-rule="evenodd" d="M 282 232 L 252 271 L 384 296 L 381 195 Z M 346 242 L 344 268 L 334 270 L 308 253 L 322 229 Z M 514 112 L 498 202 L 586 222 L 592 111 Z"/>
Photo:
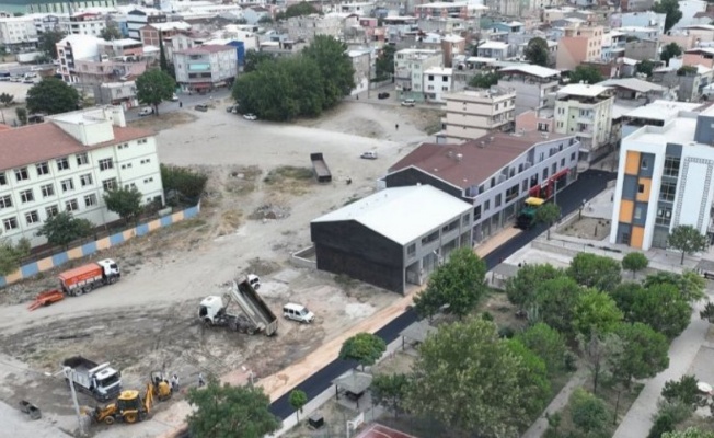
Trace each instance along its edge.
<path fill-rule="evenodd" d="M 243 313 L 231 313 L 228 309 L 231 302 L 238 304 Z M 277 316 L 247 278 L 240 283 L 232 281 L 228 292 L 222 297 L 204 298 L 198 318 L 206 326 L 227 326 L 233 332 L 251 335 L 263 333 L 273 336 L 278 331 Z"/>

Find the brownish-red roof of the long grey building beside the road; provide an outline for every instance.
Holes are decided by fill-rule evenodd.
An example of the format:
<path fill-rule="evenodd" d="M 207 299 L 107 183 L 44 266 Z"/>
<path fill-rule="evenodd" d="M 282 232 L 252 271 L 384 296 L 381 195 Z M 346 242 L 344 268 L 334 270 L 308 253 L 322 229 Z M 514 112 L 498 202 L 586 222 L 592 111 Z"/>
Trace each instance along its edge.
<path fill-rule="evenodd" d="M 468 188 L 483 183 L 532 146 L 565 137 L 550 134 L 546 140 L 538 131 L 517 136 L 492 132 L 461 145 L 422 143 L 389 171 L 414 166 L 456 187 Z"/>

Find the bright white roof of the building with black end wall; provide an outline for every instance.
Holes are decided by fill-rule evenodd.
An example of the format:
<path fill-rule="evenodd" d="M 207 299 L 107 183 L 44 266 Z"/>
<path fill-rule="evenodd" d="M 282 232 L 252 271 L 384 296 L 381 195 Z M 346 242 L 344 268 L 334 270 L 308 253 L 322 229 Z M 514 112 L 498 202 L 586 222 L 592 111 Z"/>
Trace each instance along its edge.
<path fill-rule="evenodd" d="M 428 215 L 424 214 L 425 205 L 429 206 Z M 470 204 L 430 185 L 415 185 L 385 188 L 312 222 L 354 220 L 404 245 L 471 208 Z"/>

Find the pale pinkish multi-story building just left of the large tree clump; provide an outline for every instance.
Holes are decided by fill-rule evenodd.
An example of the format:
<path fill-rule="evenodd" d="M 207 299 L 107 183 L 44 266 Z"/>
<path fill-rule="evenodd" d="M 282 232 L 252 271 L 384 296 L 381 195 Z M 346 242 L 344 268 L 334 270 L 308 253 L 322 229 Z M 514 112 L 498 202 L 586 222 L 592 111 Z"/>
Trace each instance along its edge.
<path fill-rule="evenodd" d="M 233 46 L 206 45 L 174 51 L 176 82 L 184 91 L 206 91 L 227 87 L 238 74 Z"/>

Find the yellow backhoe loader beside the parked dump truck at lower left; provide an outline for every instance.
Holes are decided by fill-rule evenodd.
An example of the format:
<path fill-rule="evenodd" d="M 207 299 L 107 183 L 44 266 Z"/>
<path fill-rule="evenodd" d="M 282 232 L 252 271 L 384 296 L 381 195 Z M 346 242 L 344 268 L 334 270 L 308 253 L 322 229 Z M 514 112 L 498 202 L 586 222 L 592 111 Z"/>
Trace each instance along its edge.
<path fill-rule="evenodd" d="M 116 422 L 128 424 L 142 422 L 149 416 L 154 400 L 169 400 L 171 395 L 171 385 L 163 373 L 153 371 L 143 397 L 136 390 L 122 391 L 116 402 L 94 408 L 93 419 L 106 425 Z"/>

